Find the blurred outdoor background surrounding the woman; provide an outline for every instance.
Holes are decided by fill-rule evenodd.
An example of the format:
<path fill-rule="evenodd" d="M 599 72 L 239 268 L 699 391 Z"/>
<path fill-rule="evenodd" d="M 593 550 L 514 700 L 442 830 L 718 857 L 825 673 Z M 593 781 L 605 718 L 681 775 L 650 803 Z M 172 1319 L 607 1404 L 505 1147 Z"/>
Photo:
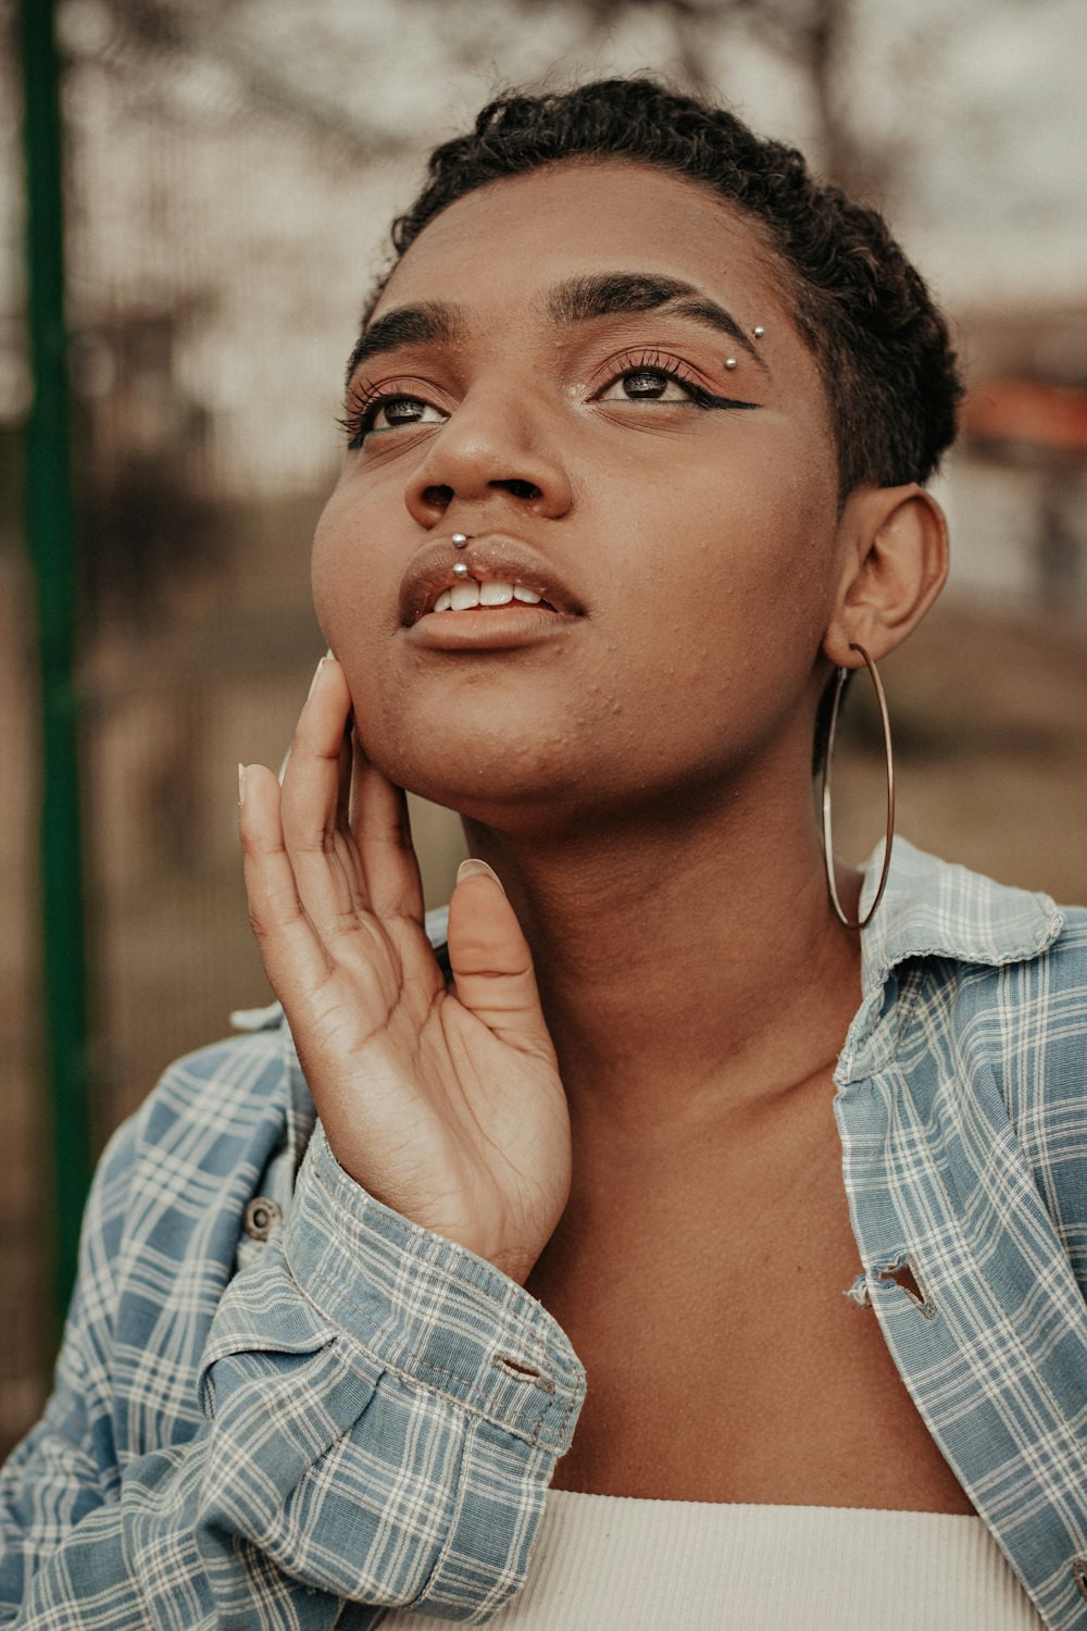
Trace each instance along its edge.
<path fill-rule="evenodd" d="M 39 634 L 68 568 L 52 558 L 36 576 L 26 527 L 26 150 L 33 166 L 49 132 L 29 98 L 24 130 L 20 51 L 41 55 L 26 18 L 47 10 L 28 0 L 20 18 L 0 0 L 0 1448 L 44 1398 L 86 1160 L 163 1065 L 223 1034 L 231 1008 L 269 1000 L 235 765 L 279 763 L 323 649 L 308 540 L 389 217 L 427 150 L 495 90 L 658 70 L 888 212 L 971 387 L 937 484 L 952 587 L 885 672 L 900 830 L 1087 900 L 1080 0 L 57 3 L 67 341 L 52 343 L 68 357 L 78 594 L 72 682 L 54 674 L 52 700 Z M 64 458 L 51 457 L 55 497 Z M 36 481 L 47 507 L 49 462 Z M 851 860 L 882 832 L 864 692 L 838 778 Z M 80 765 L 77 853 L 51 874 L 68 879 L 52 902 L 49 718 L 67 719 Z M 430 807 L 416 825 L 437 902 L 460 833 Z M 77 985 L 86 944 L 85 998 L 54 970 L 75 1080 L 57 1109 L 47 918 L 51 956 L 75 948 Z"/>

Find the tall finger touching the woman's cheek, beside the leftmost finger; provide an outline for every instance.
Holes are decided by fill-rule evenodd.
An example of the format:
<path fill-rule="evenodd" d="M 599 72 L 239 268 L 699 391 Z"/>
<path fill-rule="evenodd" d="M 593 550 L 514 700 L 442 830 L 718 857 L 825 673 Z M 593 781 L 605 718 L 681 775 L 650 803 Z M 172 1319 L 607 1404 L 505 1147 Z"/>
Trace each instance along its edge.
<path fill-rule="evenodd" d="M 323 938 L 354 928 L 365 907 L 350 837 L 337 827 L 349 713 L 344 670 L 324 657 L 298 718 L 282 794 L 284 842 L 295 882 Z"/>

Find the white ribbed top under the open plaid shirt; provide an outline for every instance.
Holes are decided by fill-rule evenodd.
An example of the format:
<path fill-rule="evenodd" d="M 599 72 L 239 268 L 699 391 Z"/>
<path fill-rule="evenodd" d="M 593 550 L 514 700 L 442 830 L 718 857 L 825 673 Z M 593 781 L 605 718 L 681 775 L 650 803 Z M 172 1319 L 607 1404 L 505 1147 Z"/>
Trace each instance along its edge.
<path fill-rule="evenodd" d="M 976 1517 L 548 1494 L 502 1631 L 1040 1631 Z M 442 1631 L 394 1610 L 381 1631 Z"/>

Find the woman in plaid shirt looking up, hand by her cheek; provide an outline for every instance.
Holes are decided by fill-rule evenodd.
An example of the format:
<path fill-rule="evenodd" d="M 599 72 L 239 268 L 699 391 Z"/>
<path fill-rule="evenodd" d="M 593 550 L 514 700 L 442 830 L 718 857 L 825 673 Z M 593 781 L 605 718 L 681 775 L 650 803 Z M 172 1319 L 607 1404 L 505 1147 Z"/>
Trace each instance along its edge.
<path fill-rule="evenodd" d="M 649 82 L 484 109 L 394 245 L 241 773 L 287 1024 L 104 1160 L 20 1623 L 774 1624 L 807 1535 L 790 1624 L 1087 1624 L 1085 920 L 901 843 L 874 912 L 812 819 L 944 581 L 939 313 Z"/>

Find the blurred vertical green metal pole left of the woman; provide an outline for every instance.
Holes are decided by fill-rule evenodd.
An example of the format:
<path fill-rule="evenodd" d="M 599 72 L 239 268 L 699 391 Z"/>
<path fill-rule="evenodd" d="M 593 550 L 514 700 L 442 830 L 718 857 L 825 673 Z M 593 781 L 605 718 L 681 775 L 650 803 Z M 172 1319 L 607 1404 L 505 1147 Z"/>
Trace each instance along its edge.
<path fill-rule="evenodd" d="M 52 1111 L 54 1290 L 64 1315 L 91 1174 L 86 964 L 73 678 L 78 553 L 64 313 L 64 163 L 52 0 L 21 0 L 28 326 L 34 400 L 26 440 L 26 540 L 37 594 L 42 789 L 44 1045 Z"/>

